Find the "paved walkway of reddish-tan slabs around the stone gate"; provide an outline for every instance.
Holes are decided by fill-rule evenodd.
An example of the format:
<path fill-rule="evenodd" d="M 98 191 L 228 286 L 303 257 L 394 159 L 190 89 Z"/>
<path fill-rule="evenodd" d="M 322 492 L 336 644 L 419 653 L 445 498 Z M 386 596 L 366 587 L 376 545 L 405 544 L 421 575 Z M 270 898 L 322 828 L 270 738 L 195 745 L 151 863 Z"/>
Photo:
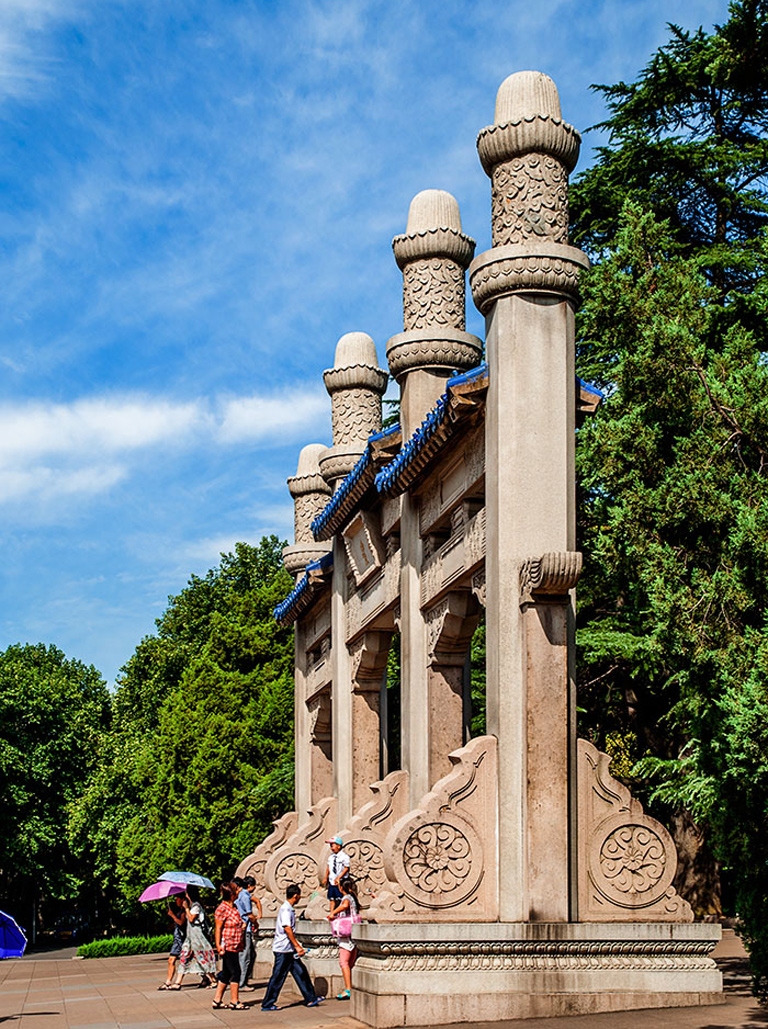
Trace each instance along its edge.
<path fill-rule="evenodd" d="M 254 1023 L 277 1029 L 360 1029 L 344 1001 L 306 1008 L 287 985 L 279 1012 L 259 1010 L 260 988 L 243 994 L 249 1010 L 214 1012 L 212 992 L 194 984 L 177 993 L 158 992 L 167 967 L 164 954 L 90 961 L 72 960 L 70 954 L 0 961 L 0 1023 L 8 1023 L 3 1029 L 254 1029 Z M 726 934 L 715 957 L 726 974 L 724 1004 L 485 1023 L 482 1029 L 768 1029 L 768 1010 L 749 993 L 744 952 L 733 933 Z"/>

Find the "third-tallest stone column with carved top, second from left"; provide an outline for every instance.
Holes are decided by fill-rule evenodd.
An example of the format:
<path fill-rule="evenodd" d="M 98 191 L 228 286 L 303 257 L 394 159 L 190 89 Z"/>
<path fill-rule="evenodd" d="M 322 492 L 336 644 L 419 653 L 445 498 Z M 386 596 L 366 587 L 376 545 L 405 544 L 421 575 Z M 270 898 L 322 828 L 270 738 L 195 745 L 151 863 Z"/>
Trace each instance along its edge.
<path fill-rule="evenodd" d="M 379 367 L 376 344 L 365 332 L 347 332 L 336 347 L 334 367 L 323 372 L 330 395 L 334 446 L 320 455 L 320 470 L 328 485 L 338 487 L 354 468 L 368 445 L 369 436 L 381 431 L 381 397 L 388 376 Z M 379 724 L 372 725 L 371 712 L 360 705 L 355 693 L 352 662 L 347 647 L 346 607 L 349 599 L 347 555 L 344 541 L 334 541 L 334 583 L 331 597 L 331 721 L 334 738 L 334 795 L 339 802 L 339 824 L 344 825 L 354 811 L 355 739 L 373 732 L 378 779 Z M 378 719 L 378 706 L 376 709 Z M 357 715 L 357 718 L 355 717 Z M 359 779 L 360 771 L 357 777 Z M 361 774 L 364 774 L 361 773 Z M 368 785 L 368 783 L 365 784 Z M 359 784 L 357 792 L 359 794 Z"/>

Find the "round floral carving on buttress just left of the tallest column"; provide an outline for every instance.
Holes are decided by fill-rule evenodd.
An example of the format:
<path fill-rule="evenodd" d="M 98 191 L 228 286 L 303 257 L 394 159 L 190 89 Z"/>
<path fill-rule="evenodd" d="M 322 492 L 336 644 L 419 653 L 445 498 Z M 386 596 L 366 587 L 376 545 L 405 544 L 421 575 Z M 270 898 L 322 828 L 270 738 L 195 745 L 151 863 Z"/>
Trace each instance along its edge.
<path fill-rule="evenodd" d="M 406 841 L 403 866 L 414 886 L 424 893 L 450 893 L 472 871 L 472 847 L 455 825 L 428 822 Z"/>

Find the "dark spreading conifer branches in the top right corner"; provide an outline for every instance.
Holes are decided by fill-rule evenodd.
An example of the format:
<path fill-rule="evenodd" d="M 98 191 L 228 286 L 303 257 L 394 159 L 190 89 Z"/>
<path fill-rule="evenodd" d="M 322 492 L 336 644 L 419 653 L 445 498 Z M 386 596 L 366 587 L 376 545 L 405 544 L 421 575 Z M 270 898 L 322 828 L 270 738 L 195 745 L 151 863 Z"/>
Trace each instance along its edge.
<path fill-rule="evenodd" d="M 637 81 L 593 86 L 610 112 L 596 127 L 608 143 L 573 184 L 571 238 L 599 253 L 632 198 L 669 222 L 743 317 L 768 223 L 768 3 L 732 2 L 711 33 L 669 31 Z"/>

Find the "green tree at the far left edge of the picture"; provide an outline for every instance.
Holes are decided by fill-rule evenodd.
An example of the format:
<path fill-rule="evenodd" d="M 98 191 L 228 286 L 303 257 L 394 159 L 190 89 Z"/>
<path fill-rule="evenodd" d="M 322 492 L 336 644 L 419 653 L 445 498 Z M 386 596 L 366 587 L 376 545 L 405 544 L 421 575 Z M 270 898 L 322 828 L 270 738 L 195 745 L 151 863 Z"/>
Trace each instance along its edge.
<path fill-rule="evenodd" d="M 81 899 L 91 870 L 64 827 L 108 725 L 93 666 L 42 643 L 0 653 L 0 907 L 28 928 L 33 906 L 49 920 Z"/>

